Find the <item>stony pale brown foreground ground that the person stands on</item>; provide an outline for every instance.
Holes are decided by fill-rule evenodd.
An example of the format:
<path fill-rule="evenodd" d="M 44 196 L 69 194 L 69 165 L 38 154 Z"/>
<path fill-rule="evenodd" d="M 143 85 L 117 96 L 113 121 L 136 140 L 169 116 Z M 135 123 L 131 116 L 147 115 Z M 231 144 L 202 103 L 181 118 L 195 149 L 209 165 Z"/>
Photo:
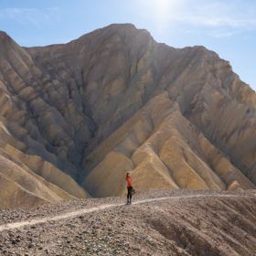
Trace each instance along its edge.
<path fill-rule="evenodd" d="M 3 219 L 30 224 L 0 232 L 0 255 L 256 254 L 255 190 L 151 190 L 135 194 L 131 206 L 124 201 L 94 198 L 1 210 L 0 229 L 7 227 Z"/>

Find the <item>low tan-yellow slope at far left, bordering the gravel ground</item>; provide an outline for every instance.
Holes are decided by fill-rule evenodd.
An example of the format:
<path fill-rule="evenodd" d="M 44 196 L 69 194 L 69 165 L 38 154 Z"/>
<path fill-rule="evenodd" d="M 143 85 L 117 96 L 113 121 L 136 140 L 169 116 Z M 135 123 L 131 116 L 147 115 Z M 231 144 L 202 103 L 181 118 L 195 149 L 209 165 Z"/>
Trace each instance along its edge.
<path fill-rule="evenodd" d="M 0 208 L 31 207 L 74 198 L 3 151 L 0 155 L 0 184 Z"/>

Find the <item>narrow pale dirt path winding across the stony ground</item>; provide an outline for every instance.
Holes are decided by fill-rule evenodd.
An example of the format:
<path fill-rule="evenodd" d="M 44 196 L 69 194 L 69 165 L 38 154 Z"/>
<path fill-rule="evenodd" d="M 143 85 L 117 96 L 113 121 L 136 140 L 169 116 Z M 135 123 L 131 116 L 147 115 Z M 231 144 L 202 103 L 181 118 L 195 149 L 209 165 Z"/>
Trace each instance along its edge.
<path fill-rule="evenodd" d="M 256 195 L 255 195 L 256 196 Z M 138 205 L 138 204 L 144 204 L 152 201 L 161 201 L 161 200 L 166 200 L 166 199 L 182 199 L 182 198 L 189 198 L 189 197 L 253 197 L 253 196 L 236 196 L 236 195 L 192 195 L 192 196 L 174 196 L 174 197 L 158 197 L 158 198 L 149 198 L 149 199 L 144 199 L 144 200 L 138 200 L 133 202 L 133 205 Z M 132 205 L 132 206 L 133 206 Z M 58 216 L 53 216 L 53 217 L 46 217 L 46 218 L 41 218 L 41 219 L 30 219 L 27 221 L 19 221 L 19 222 L 14 222 L 14 223 L 8 223 L 5 225 L 0 226 L 0 232 L 4 230 L 9 230 L 9 229 L 19 229 L 23 228 L 26 226 L 32 226 L 40 223 L 46 223 L 48 221 L 57 221 L 59 219 L 71 219 L 75 218 L 77 216 L 91 213 L 94 211 L 101 211 L 106 208 L 114 208 L 114 207 L 121 207 L 123 204 L 104 204 L 95 208 L 82 208 L 79 210 L 71 211 L 68 213 L 64 213 Z M 131 206 L 129 206 L 131 207 Z"/>

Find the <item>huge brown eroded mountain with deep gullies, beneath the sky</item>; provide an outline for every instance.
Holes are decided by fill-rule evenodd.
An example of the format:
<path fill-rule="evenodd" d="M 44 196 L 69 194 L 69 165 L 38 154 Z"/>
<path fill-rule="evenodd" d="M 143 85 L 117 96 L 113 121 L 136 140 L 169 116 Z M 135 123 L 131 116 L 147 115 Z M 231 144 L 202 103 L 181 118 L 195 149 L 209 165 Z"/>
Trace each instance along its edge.
<path fill-rule="evenodd" d="M 1 152 L 71 197 L 121 195 L 127 170 L 138 188 L 255 188 L 255 128 L 255 92 L 206 48 L 133 25 L 43 48 L 0 33 Z"/>

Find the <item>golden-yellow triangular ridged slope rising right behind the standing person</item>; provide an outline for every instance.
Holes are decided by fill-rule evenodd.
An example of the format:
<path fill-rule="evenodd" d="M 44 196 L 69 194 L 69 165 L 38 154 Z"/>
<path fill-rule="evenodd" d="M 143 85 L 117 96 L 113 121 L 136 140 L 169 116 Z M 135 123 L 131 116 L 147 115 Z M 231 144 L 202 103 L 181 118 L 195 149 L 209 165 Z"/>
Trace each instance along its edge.
<path fill-rule="evenodd" d="M 95 191 L 94 187 L 101 189 L 103 182 L 98 181 L 99 174 L 106 176 L 112 172 L 112 169 L 115 174 L 124 176 L 125 171 L 122 168 L 126 168 L 127 165 L 119 166 L 117 163 L 122 163 L 125 157 L 127 163 L 132 160 L 130 165 L 133 167 L 126 169 L 132 171 L 133 186 L 136 188 L 254 188 L 250 179 L 242 175 L 218 149 L 210 144 L 179 110 L 175 107 L 170 108 L 172 105 L 173 102 L 165 93 L 157 95 L 135 114 L 133 125 L 128 121 L 112 133 L 88 156 L 90 161 L 91 158 L 99 161 L 99 165 L 92 168 L 90 175 L 85 178 L 84 186 L 91 192 Z M 161 111 L 158 111 L 159 106 Z M 147 118 L 145 113 L 148 114 Z M 147 119 L 153 125 L 151 129 L 148 127 Z M 140 136 L 140 134 L 147 135 Z M 128 138 L 129 143 L 127 143 Z M 139 141 L 138 138 L 141 140 Z M 103 157 L 101 153 L 107 154 L 108 150 L 115 150 L 119 154 L 115 153 L 113 159 L 108 155 L 101 159 Z M 105 170 L 104 166 L 110 166 L 106 163 L 112 163 L 114 167 L 107 167 Z M 99 170 L 100 166 L 101 170 Z M 120 182 L 122 180 L 119 179 L 118 185 Z M 93 184 L 94 187 L 88 186 L 89 184 Z M 104 187 L 108 188 L 106 195 L 112 191 L 112 186 L 108 186 L 109 184 L 115 183 L 106 179 L 104 184 Z M 119 190 L 121 194 L 123 187 Z M 114 189 L 118 187 L 114 186 Z"/>

